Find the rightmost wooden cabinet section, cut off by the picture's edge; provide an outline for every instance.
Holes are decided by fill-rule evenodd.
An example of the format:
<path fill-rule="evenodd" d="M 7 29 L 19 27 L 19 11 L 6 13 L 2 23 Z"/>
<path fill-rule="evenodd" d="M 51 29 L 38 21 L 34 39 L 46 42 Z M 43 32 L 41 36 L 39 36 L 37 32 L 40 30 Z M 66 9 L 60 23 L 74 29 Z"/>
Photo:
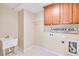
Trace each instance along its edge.
<path fill-rule="evenodd" d="M 79 4 L 73 4 L 73 24 L 79 24 Z"/>

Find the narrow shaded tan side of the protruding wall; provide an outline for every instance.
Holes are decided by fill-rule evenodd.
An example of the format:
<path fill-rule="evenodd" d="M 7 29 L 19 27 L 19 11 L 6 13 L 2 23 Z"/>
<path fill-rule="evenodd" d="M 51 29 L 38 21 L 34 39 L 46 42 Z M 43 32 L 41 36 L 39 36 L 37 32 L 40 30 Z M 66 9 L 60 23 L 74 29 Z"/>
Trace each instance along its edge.
<path fill-rule="evenodd" d="M 18 12 L 18 46 L 24 49 L 24 10 Z"/>

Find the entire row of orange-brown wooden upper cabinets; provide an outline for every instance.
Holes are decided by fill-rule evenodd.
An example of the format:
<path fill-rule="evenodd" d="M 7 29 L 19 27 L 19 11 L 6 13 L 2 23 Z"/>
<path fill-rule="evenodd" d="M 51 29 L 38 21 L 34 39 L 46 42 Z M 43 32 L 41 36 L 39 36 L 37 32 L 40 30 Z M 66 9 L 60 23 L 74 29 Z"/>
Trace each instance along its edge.
<path fill-rule="evenodd" d="M 44 7 L 44 23 L 51 24 L 79 24 L 79 4 L 60 3 Z"/>

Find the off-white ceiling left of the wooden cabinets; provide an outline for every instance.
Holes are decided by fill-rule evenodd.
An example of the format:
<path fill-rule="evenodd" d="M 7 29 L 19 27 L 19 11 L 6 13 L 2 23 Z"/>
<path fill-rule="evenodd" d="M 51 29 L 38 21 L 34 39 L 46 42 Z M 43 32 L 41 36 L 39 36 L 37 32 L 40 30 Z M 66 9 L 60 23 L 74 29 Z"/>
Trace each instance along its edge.
<path fill-rule="evenodd" d="M 43 10 L 43 7 L 48 4 L 49 3 L 2 3 L 0 5 L 10 7 L 16 11 L 20 11 L 21 9 L 24 9 L 32 13 L 37 13 Z"/>

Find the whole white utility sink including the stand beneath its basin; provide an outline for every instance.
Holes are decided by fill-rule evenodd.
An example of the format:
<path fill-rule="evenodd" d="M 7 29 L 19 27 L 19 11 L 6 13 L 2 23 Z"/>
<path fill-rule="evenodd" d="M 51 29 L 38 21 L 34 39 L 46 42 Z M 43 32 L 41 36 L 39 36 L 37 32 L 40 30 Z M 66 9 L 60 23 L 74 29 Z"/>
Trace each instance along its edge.
<path fill-rule="evenodd" d="M 0 55 L 8 55 L 10 53 L 15 53 L 16 46 L 17 38 L 0 38 Z"/>

